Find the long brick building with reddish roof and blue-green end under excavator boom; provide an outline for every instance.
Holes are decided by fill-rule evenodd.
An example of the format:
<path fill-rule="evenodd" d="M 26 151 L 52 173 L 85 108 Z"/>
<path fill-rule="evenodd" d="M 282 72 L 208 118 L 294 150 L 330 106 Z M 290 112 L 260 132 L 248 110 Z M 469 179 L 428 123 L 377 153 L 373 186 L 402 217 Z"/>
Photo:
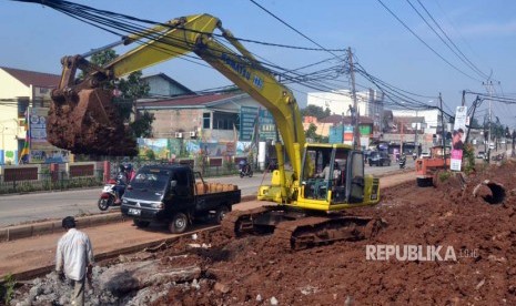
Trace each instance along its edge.
<path fill-rule="evenodd" d="M 270 113 L 240 91 L 139 102 L 138 110 L 154 115 L 154 137 L 233 142 L 275 135 Z"/>

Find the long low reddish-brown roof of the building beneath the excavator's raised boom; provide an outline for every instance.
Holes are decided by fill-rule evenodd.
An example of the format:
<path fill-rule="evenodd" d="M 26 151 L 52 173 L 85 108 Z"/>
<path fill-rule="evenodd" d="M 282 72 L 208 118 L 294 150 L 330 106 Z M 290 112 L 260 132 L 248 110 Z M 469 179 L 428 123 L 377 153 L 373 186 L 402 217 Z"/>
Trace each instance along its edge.
<path fill-rule="evenodd" d="M 212 104 L 223 103 L 232 98 L 241 96 L 242 93 L 212 93 L 205 95 L 182 95 L 174 99 L 166 99 L 160 101 L 139 102 L 138 108 L 153 109 L 153 108 L 183 108 L 183 106 L 210 106 Z M 246 95 L 246 94 L 245 94 Z"/>

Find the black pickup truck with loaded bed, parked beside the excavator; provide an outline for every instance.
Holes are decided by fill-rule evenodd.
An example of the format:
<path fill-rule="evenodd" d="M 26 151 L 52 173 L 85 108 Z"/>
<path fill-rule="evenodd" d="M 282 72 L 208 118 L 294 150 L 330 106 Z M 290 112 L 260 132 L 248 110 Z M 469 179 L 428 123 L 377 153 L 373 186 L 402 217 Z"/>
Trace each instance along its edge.
<path fill-rule="evenodd" d="M 145 165 L 129 183 L 121 211 L 138 227 L 164 222 L 179 234 L 196 218 L 211 216 L 220 223 L 240 201 L 236 185 L 206 184 L 189 165 Z"/>

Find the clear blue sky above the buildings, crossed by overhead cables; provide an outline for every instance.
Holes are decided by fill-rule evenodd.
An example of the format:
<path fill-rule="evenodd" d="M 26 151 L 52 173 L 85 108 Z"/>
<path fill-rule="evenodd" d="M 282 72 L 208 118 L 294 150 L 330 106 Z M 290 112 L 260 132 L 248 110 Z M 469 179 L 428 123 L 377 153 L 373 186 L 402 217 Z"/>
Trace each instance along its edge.
<path fill-rule="evenodd" d="M 287 70 L 323 60 L 328 60 L 326 65 L 314 65 L 313 71 L 335 68 L 341 64 L 336 57 L 344 58 L 346 53 L 328 50 L 351 48 L 354 63 L 370 75 L 409 92 L 411 98 L 428 105 L 437 105 L 441 93 L 448 113 L 455 113 L 464 90 L 484 94 L 490 91 L 494 95 L 516 99 L 516 1 L 513 0 L 72 2 L 158 22 L 209 13 L 219 18 L 222 26 L 237 38 L 318 49 L 310 51 L 243 42 L 260 60 Z M 441 33 L 449 48 L 411 4 Z M 60 59 L 63 55 L 82 54 L 120 39 L 52 8 L 10 0 L 0 0 L 0 29 L 3 42 L 0 67 L 55 74 L 61 73 Z M 117 52 L 121 54 L 127 50 Z M 159 72 L 195 91 L 232 84 L 205 64 L 182 59 L 154 65 L 144 70 L 143 74 Z M 310 70 L 303 72 L 308 73 Z M 355 75 L 358 91 L 375 88 L 362 74 Z M 350 80 L 346 73 L 334 80 L 322 80 L 315 88 L 289 86 L 300 106 L 304 108 L 310 92 L 350 89 Z M 486 86 L 486 83 L 493 85 Z M 466 105 L 471 106 L 475 96 L 466 94 Z M 489 104 L 493 118 L 498 116 L 503 124 L 516 128 L 515 104 L 484 101 L 477 114 L 484 116 L 488 113 Z"/>

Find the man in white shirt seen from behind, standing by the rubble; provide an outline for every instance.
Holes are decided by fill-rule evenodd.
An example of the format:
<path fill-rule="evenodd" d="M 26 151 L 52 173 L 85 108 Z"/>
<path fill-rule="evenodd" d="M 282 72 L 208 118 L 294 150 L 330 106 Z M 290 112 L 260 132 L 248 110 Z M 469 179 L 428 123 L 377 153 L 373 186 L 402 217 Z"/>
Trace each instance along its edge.
<path fill-rule="evenodd" d="M 68 232 L 58 242 L 55 272 L 62 282 L 65 278 L 73 280 L 72 305 L 82 306 L 85 279 L 91 282 L 93 249 L 88 235 L 75 230 L 75 220 L 72 216 L 62 220 L 62 227 Z"/>

